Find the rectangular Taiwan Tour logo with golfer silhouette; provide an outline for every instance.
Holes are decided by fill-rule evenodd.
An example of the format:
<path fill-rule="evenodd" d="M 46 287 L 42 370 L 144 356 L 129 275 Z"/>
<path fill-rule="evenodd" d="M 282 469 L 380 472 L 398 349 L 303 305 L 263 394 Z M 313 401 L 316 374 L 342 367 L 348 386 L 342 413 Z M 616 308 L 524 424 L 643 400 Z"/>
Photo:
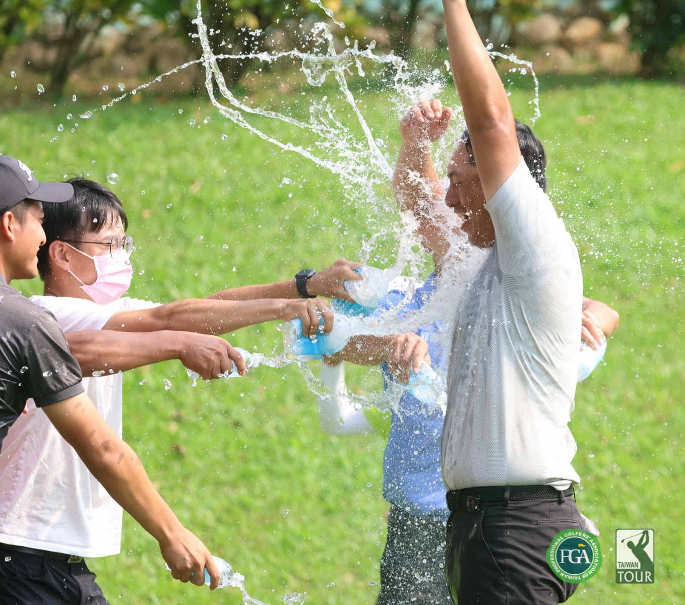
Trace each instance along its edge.
<path fill-rule="evenodd" d="M 616 583 L 654 583 L 654 530 L 616 530 Z"/>

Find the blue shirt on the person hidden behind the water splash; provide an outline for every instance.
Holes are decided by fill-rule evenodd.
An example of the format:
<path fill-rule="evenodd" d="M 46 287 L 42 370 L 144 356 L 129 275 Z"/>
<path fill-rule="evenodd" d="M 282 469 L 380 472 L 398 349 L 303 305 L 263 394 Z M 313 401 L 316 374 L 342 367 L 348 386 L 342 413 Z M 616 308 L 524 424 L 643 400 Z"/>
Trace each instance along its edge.
<path fill-rule="evenodd" d="M 421 309 L 435 291 L 432 273 L 423 286 L 416 289 L 412 299 L 401 307 L 398 319 Z M 379 302 L 374 315 L 397 308 L 405 297 L 405 292 L 389 291 Z M 441 331 L 440 322 L 434 321 L 416 330 L 416 334 L 428 343 L 433 369 L 444 373 L 447 359 L 437 338 Z M 381 369 L 386 385 L 394 382 L 387 363 L 383 363 Z M 383 496 L 412 515 L 447 521 L 447 489 L 440 469 L 440 439 L 445 416 L 439 406 L 433 406 L 431 410 L 426 407 L 405 392 L 399 400 L 399 414 L 391 412 L 390 437 L 383 458 Z"/>

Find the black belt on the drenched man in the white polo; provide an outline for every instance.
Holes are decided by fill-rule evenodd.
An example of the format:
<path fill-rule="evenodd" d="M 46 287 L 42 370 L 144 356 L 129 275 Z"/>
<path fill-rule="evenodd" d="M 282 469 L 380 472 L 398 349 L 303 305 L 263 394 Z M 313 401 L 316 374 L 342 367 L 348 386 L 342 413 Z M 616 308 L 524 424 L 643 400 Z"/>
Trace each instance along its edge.
<path fill-rule="evenodd" d="M 481 504 L 488 502 L 521 502 L 522 500 L 555 500 L 574 497 L 573 486 L 564 491 L 551 485 L 512 485 L 493 487 L 467 487 L 447 492 L 447 508 L 462 513 L 483 510 Z"/>

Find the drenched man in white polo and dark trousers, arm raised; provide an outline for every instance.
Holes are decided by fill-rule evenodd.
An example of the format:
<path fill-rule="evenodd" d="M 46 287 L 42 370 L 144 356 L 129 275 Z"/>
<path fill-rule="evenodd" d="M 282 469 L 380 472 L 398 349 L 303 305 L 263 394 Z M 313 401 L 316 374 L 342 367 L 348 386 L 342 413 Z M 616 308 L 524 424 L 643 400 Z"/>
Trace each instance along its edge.
<path fill-rule="evenodd" d="M 449 163 L 445 202 L 471 244 L 490 250 L 453 332 L 442 440 L 447 581 L 459 605 L 557 604 L 577 584 L 553 573 L 547 549 L 558 532 L 586 529 L 568 426 L 580 260 L 545 194 L 543 146 L 514 121 L 466 0 L 443 5 L 468 128 Z"/>

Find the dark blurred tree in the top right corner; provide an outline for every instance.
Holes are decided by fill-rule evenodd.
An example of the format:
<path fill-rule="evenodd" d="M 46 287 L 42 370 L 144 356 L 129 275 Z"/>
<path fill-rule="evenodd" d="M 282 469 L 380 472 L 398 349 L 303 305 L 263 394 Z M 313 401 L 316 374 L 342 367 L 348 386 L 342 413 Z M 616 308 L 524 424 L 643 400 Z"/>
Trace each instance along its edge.
<path fill-rule="evenodd" d="M 621 0 L 620 8 L 630 16 L 628 31 L 642 52 L 640 75 L 667 75 L 669 51 L 685 44 L 685 0 Z"/>

